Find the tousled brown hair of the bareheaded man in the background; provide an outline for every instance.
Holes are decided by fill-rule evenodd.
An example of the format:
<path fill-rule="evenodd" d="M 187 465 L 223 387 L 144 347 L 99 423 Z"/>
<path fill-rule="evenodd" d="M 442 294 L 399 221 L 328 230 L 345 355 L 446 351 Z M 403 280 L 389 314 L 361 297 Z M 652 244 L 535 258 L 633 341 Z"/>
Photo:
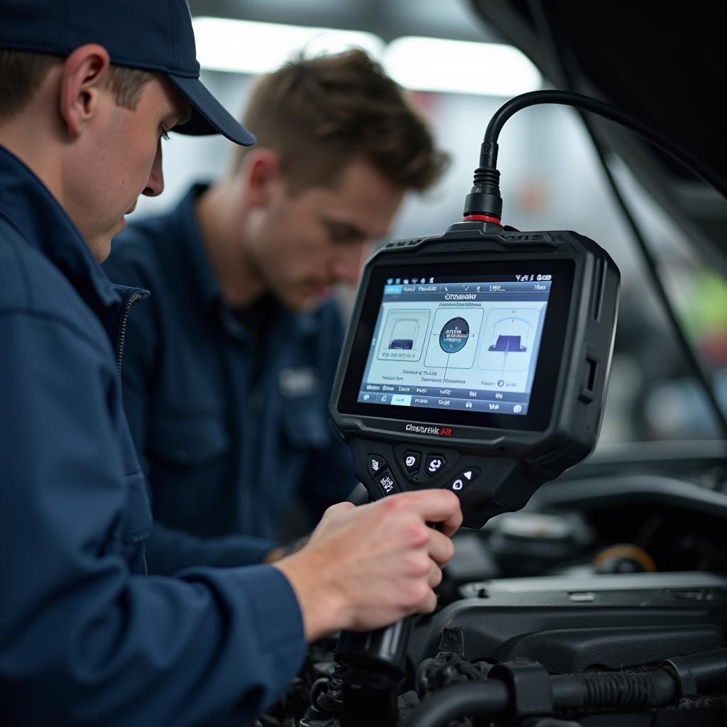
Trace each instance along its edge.
<path fill-rule="evenodd" d="M 411 100 L 362 50 L 297 57 L 257 79 L 242 123 L 281 159 L 289 191 L 330 187 L 354 158 L 425 190 L 448 164 Z M 246 148 L 238 148 L 233 172 Z"/>

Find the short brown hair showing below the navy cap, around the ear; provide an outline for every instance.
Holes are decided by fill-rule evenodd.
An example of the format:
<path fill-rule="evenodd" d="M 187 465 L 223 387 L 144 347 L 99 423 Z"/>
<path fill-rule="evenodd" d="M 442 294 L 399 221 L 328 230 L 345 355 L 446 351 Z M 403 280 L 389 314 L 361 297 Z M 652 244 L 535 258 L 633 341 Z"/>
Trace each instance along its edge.
<path fill-rule="evenodd" d="M 63 57 L 57 55 L 0 48 L 0 121 L 20 113 L 41 87 L 51 66 L 62 62 Z M 116 103 L 136 108 L 142 87 L 153 77 L 153 73 L 140 68 L 112 65 L 109 82 L 116 92 Z"/>

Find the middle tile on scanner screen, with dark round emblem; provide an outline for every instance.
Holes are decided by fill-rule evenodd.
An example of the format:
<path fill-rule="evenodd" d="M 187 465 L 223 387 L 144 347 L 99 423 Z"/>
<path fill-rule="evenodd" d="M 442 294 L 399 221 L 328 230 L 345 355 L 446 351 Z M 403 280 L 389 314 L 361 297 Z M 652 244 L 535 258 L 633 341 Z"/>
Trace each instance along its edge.
<path fill-rule="evenodd" d="M 482 308 L 439 308 L 434 316 L 425 366 L 471 369 L 482 325 Z"/>

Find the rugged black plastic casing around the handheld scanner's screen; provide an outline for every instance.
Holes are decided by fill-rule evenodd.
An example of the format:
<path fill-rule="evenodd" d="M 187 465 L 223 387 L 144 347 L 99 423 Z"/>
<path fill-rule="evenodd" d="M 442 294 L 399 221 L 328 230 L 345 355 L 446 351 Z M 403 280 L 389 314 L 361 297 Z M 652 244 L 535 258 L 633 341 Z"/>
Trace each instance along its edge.
<path fill-rule="evenodd" d="M 552 396 L 548 392 L 550 411 L 534 412 L 541 422 L 538 427 L 525 428 L 520 417 L 506 414 L 495 417 L 496 425 L 481 426 L 462 424 L 459 412 L 452 417 L 457 423 L 452 423 L 448 422 L 449 410 L 435 410 L 439 420 L 434 423 L 417 419 L 422 416 L 417 413 L 421 409 L 414 406 L 406 409 L 410 418 L 403 421 L 382 416 L 382 411 L 393 407 L 352 406 L 350 396 L 342 395 L 351 386 L 350 367 L 358 370 L 361 356 L 366 355 L 360 342 L 355 349 L 356 333 L 371 278 L 379 268 L 395 266 L 406 274 L 409 265 L 416 272 L 425 265 L 456 263 L 466 272 L 467 266 L 512 262 L 513 270 L 518 270 L 518 265 L 558 261 L 570 261 L 567 267 L 573 271 L 572 284 L 565 320 L 555 321 L 563 328 L 562 346 L 559 350 L 541 346 L 538 356 L 538 369 L 549 368 L 554 387 Z M 401 490 L 448 487 L 453 473 L 477 467 L 481 475 L 457 494 L 465 526 L 481 527 L 493 515 L 520 509 L 540 484 L 587 457 L 601 427 L 619 281 L 619 270 L 611 257 L 593 240 L 571 231 L 520 232 L 491 222 L 459 222 L 442 236 L 395 240 L 379 249 L 364 268 L 329 403 L 334 428 L 351 446 L 356 475 L 371 498 L 384 494 L 367 470 L 371 452 L 386 459 Z M 551 313 L 549 307 L 546 326 L 553 326 L 553 321 L 549 323 Z M 537 393 L 537 377 L 533 395 Z M 371 415 L 361 413 L 368 411 L 366 406 L 372 406 L 375 415 L 373 411 Z M 396 409 L 401 417 L 404 408 Z M 438 430 L 439 434 L 407 431 L 407 425 Z M 451 466 L 426 481 L 412 481 L 401 466 L 402 452 L 411 448 L 425 455 L 441 453 Z"/>

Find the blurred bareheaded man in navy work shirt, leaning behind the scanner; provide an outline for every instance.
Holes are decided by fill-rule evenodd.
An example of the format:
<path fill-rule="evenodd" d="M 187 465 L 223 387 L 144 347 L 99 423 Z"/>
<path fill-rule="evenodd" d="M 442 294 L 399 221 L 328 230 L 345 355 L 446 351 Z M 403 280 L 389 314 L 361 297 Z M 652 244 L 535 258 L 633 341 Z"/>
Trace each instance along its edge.
<path fill-rule="evenodd" d="M 262 76 L 244 124 L 257 143 L 228 176 L 129 225 L 104 266 L 152 292 L 129 319 L 123 369 L 151 573 L 260 562 L 294 497 L 311 523 L 348 497 L 350 451 L 327 412 L 343 340 L 329 288 L 356 282 L 405 190 L 443 166 L 361 50 Z"/>

